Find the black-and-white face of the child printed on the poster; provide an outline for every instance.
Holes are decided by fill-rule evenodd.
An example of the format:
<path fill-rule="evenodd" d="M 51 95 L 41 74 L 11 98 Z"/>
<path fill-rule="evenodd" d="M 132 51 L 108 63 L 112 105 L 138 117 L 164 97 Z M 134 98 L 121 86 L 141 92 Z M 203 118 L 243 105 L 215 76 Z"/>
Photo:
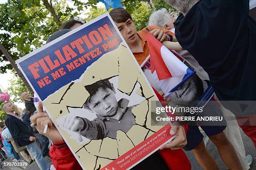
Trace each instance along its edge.
<path fill-rule="evenodd" d="M 114 91 L 100 87 L 91 97 L 88 106 L 96 113 L 97 117 L 112 117 L 116 114 L 118 102 Z"/>

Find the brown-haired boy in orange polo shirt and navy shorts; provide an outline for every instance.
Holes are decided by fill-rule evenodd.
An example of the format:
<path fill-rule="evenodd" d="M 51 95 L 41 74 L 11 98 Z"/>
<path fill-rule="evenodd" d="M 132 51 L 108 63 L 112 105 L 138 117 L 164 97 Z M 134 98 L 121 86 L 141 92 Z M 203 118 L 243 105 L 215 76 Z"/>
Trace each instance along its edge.
<path fill-rule="evenodd" d="M 164 28 L 156 27 L 156 26 L 148 26 L 146 29 L 144 28 L 141 31 L 136 32 L 135 24 L 131 15 L 127 10 L 123 8 L 115 8 L 110 11 L 110 16 L 114 20 L 116 26 L 118 27 L 120 33 L 128 44 L 129 48 L 133 52 L 138 63 L 141 63 L 146 59 L 149 55 L 149 49 L 146 42 L 146 34 L 148 30 L 150 33 L 156 37 L 160 42 L 169 41 L 169 34 L 172 34 L 169 30 L 165 30 Z M 176 38 L 171 38 L 176 41 Z M 179 126 L 179 128 L 183 128 Z M 207 129 L 207 130 L 206 130 Z M 225 164 L 232 170 L 240 170 L 242 169 L 240 161 L 236 155 L 236 151 L 234 150 L 232 144 L 228 141 L 223 130 L 225 126 L 215 126 L 215 127 L 205 127 L 205 131 L 208 136 L 218 147 L 220 155 L 225 162 Z M 184 129 L 183 129 L 184 130 Z M 197 135 L 194 135 L 197 134 Z M 188 145 L 186 146 L 187 150 L 194 149 L 194 153 L 196 155 L 197 160 L 200 162 L 202 167 L 205 169 L 218 169 L 217 164 L 209 154 L 206 152 L 204 143 L 202 141 L 202 134 L 197 128 L 190 128 L 187 132 L 187 140 Z M 168 148 L 169 144 L 163 146 L 163 148 Z M 232 158 L 231 158 L 232 157 Z M 235 160 L 234 160 L 235 159 Z M 235 163 L 234 163 L 235 162 Z"/>

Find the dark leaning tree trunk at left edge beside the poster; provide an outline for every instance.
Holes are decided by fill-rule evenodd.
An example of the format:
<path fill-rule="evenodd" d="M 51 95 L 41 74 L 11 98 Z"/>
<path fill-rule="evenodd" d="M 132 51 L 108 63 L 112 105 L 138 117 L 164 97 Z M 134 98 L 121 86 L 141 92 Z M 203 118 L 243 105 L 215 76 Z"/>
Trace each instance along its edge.
<path fill-rule="evenodd" d="M 10 62 L 10 64 L 13 66 L 13 69 L 16 71 L 16 73 L 18 74 L 18 76 L 20 77 L 20 79 L 23 81 L 23 83 L 26 85 L 26 87 L 28 88 L 29 92 L 31 93 L 31 95 L 34 95 L 34 91 L 32 90 L 31 86 L 28 84 L 28 81 L 26 80 L 26 78 L 23 76 L 23 74 L 21 73 L 20 69 L 18 69 L 18 66 L 16 65 L 16 63 L 13 61 L 13 58 L 10 57 L 9 53 L 6 51 L 6 49 L 4 48 L 4 46 L 0 43 L 0 49 L 3 52 L 3 54 L 5 55 L 5 57 L 8 59 L 8 61 Z"/>

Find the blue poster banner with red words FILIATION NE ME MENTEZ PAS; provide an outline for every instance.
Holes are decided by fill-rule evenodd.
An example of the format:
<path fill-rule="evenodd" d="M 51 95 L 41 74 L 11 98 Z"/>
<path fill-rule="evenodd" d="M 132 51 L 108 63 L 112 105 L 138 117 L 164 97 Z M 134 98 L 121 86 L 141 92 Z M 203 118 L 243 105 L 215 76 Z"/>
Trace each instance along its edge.
<path fill-rule="evenodd" d="M 39 48 L 19 63 L 41 100 L 79 79 L 92 63 L 122 42 L 107 16 L 81 27 L 84 28 L 67 33 L 68 36 L 46 48 Z"/>

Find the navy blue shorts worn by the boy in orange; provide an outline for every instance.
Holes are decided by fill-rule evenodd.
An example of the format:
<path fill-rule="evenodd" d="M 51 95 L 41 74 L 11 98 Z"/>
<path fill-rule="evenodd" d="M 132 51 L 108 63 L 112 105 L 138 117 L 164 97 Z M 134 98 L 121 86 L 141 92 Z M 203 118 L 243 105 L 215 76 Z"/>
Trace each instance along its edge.
<path fill-rule="evenodd" d="M 213 102 L 209 102 L 206 104 L 206 106 L 203 109 L 204 112 L 202 112 L 200 115 L 204 116 L 223 116 L 222 112 L 218 108 L 217 105 L 215 105 Z M 198 116 L 200 116 L 198 115 Z M 225 119 L 223 118 L 222 121 L 216 122 L 192 122 L 193 125 L 189 126 L 189 129 L 187 131 L 187 145 L 183 147 L 184 150 L 189 151 L 195 149 L 200 142 L 203 139 L 203 135 L 199 130 L 200 127 L 205 131 L 205 134 L 210 137 L 216 134 L 219 134 L 223 132 L 223 130 L 226 128 L 227 124 Z"/>

